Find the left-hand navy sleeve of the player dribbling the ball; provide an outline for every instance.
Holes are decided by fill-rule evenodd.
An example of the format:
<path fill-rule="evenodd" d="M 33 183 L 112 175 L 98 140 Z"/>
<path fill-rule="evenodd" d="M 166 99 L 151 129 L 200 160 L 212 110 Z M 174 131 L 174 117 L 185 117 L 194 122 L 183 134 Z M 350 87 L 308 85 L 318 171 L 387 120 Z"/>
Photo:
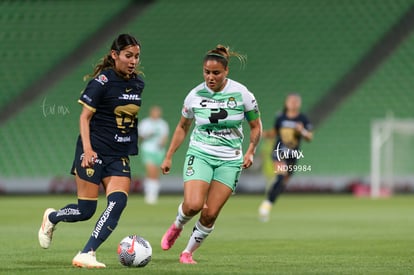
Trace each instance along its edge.
<path fill-rule="evenodd" d="M 89 81 L 78 102 L 90 109 L 92 112 L 96 112 L 96 108 L 99 106 L 99 103 L 104 96 L 104 92 L 106 90 L 105 83 L 107 82 L 108 80 L 104 74 L 101 74 L 97 78 Z"/>

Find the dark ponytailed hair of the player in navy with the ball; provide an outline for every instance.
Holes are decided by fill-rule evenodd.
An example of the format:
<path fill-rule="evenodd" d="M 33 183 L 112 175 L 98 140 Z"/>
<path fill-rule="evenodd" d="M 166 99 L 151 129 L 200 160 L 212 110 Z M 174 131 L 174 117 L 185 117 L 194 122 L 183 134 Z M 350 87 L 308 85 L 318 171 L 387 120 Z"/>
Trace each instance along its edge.
<path fill-rule="evenodd" d="M 99 63 L 93 69 L 91 74 L 87 74 L 83 77 L 83 80 L 87 80 L 89 78 L 97 77 L 102 71 L 114 68 L 115 67 L 115 60 L 112 58 L 111 51 L 114 50 L 118 54 L 125 48 L 129 46 L 139 46 L 141 48 L 141 44 L 135 37 L 129 34 L 120 34 L 113 42 L 109 53 L 106 54 Z M 135 71 L 136 74 L 141 74 L 141 71 L 138 69 Z"/>

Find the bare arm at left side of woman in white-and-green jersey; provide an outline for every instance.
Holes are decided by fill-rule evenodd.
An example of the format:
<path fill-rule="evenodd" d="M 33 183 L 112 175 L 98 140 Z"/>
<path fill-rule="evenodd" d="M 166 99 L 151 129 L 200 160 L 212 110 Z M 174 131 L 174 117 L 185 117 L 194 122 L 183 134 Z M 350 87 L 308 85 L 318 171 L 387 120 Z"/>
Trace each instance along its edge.
<path fill-rule="evenodd" d="M 181 116 L 181 119 L 178 122 L 173 137 L 171 139 L 170 147 L 168 148 L 167 153 L 165 154 L 164 161 L 161 164 L 161 171 L 164 175 L 170 172 L 172 157 L 174 153 L 177 151 L 177 149 L 180 147 L 180 145 L 183 143 L 185 137 L 187 136 L 190 130 L 192 122 L 192 119 Z"/>

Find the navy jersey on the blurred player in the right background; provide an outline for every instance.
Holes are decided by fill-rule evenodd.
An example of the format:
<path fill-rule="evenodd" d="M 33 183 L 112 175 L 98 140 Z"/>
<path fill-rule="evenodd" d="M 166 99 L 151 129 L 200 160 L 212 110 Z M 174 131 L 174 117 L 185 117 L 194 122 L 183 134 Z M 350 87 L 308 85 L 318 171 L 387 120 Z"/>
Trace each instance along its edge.
<path fill-rule="evenodd" d="M 300 146 L 300 141 L 302 139 L 302 134 L 296 130 L 296 124 L 302 123 L 303 127 L 312 131 L 312 124 L 309 122 L 308 118 L 300 113 L 294 118 L 289 118 L 286 114 L 282 113 L 276 117 L 274 128 L 277 133 L 277 141 L 275 144 L 275 149 L 279 145 L 279 148 L 286 148 L 291 150 L 297 150 Z"/>

